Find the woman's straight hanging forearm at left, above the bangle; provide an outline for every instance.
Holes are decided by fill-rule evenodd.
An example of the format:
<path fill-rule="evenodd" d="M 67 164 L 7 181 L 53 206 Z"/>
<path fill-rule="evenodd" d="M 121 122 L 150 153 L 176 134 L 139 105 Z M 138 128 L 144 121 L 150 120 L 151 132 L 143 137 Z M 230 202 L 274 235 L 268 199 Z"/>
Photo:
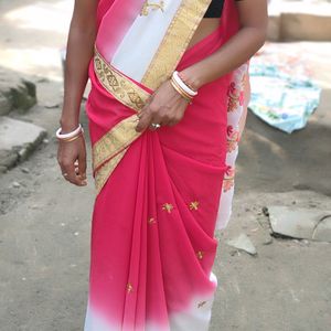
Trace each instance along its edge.
<path fill-rule="evenodd" d="M 83 28 L 72 23 L 65 65 L 64 102 L 61 116 L 63 131 L 78 126 L 79 108 L 88 79 L 88 64 L 93 56 L 95 26 Z"/>

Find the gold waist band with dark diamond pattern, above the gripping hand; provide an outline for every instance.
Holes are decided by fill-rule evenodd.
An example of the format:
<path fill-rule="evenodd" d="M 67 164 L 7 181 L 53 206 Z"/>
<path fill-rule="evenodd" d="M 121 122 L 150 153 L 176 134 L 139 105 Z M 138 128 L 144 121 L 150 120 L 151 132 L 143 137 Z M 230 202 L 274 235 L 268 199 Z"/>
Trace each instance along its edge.
<path fill-rule="evenodd" d="M 121 104 L 137 111 L 140 111 L 143 108 L 150 94 L 107 63 L 96 47 L 94 70 L 104 88 Z"/>

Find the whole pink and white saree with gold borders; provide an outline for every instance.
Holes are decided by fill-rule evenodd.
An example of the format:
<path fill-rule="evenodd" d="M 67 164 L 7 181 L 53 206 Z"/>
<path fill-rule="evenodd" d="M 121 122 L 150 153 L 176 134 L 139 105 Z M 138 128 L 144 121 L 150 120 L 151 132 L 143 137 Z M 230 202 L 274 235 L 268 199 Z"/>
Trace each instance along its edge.
<path fill-rule="evenodd" d="M 85 331 L 209 328 L 214 231 L 231 213 L 246 67 L 203 86 L 177 126 L 135 127 L 173 70 L 237 31 L 228 0 L 220 29 L 186 49 L 210 2 L 99 2 L 86 107 L 97 196 Z"/>

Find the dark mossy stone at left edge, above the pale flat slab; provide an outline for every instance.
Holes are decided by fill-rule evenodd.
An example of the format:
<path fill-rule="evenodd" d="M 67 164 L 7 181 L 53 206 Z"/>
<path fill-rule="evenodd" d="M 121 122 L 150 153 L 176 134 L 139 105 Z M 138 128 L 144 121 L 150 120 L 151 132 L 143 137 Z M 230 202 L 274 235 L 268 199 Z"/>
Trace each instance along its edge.
<path fill-rule="evenodd" d="M 36 104 L 35 84 L 0 67 L 0 116 L 13 109 L 25 111 Z"/>

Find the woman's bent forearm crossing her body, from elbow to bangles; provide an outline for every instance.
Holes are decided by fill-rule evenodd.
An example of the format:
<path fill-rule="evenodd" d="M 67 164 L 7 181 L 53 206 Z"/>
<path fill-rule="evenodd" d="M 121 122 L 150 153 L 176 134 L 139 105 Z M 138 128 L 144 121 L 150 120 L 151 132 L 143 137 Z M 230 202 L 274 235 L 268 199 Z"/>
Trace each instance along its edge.
<path fill-rule="evenodd" d="M 265 29 L 243 28 L 212 55 L 181 72 L 183 81 L 199 89 L 248 61 L 264 44 Z"/>

